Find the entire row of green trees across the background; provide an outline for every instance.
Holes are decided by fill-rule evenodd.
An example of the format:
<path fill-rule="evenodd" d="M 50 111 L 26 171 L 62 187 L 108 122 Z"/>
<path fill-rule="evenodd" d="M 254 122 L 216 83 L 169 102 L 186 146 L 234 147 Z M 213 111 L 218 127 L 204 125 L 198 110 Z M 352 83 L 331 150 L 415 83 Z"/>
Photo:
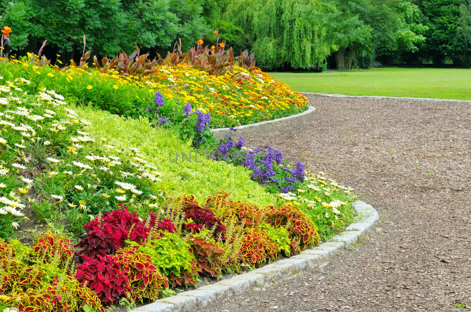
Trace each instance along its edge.
<path fill-rule="evenodd" d="M 78 59 L 83 48 L 100 55 L 129 53 L 135 45 L 166 54 L 181 39 L 225 42 L 255 53 L 259 66 L 338 69 L 384 63 L 471 66 L 470 0 L 18 0 L 1 26 L 12 28 L 8 49 Z M 121 31 L 117 36 L 116 29 Z M 219 37 L 213 31 L 219 29 Z M 7 51 L 7 50 L 6 50 Z M 6 52 L 5 51 L 5 52 Z"/>

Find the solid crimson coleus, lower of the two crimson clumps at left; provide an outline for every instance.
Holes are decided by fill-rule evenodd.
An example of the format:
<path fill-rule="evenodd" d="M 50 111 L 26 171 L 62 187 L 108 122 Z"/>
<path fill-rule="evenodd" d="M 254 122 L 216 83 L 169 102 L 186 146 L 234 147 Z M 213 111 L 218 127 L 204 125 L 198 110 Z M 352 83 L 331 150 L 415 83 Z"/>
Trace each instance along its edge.
<path fill-rule="evenodd" d="M 82 255 L 83 263 L 79 267 L 75 278 L 81 285 L 86 284 L 89 289 L 95 291 L 101 302 L 113 304 L 114 300 L 125 292 L 131 291 L 128 275 L 122 270 L 120 258 L 113 255 L 96 258 Z"/>

